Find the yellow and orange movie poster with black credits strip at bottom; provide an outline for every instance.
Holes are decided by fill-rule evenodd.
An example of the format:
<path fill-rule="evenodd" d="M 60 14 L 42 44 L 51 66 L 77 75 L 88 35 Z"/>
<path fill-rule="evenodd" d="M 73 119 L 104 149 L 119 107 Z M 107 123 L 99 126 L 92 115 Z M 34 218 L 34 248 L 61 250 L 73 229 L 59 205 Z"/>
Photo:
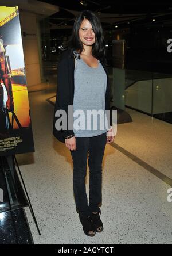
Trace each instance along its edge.
<path fill-rule="evenodd" d="M 33 151 L 18 7 L 0 6 L 0 156 Z"/>

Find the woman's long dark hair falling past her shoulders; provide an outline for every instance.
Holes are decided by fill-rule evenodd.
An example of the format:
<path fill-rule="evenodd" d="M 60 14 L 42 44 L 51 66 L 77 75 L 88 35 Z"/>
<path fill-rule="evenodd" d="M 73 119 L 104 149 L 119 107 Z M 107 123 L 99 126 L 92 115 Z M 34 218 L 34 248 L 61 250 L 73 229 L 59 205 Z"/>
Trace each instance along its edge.
<path fill-rule="evenodd" d="M 68 48 L 72 51 L 79 51 L 79 53 L 83 51 L 83 44 L 79 38 L 79 29 L 84 18 L 91 23 L 95 33 L 95 43 L 92 45 L 92 56 L 97 59 L 105 59 L 105 41 L 101 22 L 96 14 L 90 10 L 84 10 L 75 19 L 72 35 L 68 41 Z"/>

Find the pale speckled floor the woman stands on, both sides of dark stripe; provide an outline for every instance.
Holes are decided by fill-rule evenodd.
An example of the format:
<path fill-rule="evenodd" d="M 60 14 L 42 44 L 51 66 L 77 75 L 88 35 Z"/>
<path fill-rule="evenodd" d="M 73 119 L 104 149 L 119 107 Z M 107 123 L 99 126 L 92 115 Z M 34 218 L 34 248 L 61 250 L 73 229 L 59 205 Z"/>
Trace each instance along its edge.
<path fill-rule="evenodd" d="M 104 231 L 89 238 L 75 209 L 71 154 L 52 135 L 54 108 L 46 99 L 55 95 L 56 88 L 53 84 L 41 88 L 29 89 L 36 152 L 17 155 L 42 234 L 38 235 L 26 208 L 34 243 L 172 244 L 172 202 L 167 202 L 170 185 L 115 148 L 117 144 L 171 180 L 171 124 L 127 109 L 133 122 L 118 125 L 115 144 L 105 148 Z M 88 184 L 87 175 L 87 191 Z"/>

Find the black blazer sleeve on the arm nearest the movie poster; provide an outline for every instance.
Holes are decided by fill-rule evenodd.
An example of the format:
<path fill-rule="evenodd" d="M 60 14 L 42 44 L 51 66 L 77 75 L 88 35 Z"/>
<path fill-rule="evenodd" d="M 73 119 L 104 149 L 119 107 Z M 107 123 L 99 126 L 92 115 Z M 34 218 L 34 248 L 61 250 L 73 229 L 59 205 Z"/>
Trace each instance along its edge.
<path fill-rule="evenodd" d="M 68 106 L 71 105 L 70 95 L 70 76 L 69 76 L 69 62 L 67 58 L 61 58 L 57 67 L 57 93 L 56 93 L 56 104 L 54 109 L 54 126 L 56 120 L 59 117 L 55 117 L 57 110 L 65 110 L 67 114 L 67 129 L 61 129 L 62 136 L 68 136 L 73 134 L 73 129 L 68 128 Z M 73 125 L 72 125 L 73 128 Z M 54 127 L 54 129 L 56 129 Z"/>

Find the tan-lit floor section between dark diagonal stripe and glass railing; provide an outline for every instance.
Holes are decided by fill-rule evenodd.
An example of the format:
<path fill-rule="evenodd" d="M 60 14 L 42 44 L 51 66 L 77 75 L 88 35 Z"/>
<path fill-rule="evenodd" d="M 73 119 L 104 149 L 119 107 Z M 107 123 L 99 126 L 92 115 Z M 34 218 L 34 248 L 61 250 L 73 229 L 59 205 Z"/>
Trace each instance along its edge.
<path fill-rule="evenodd" d="M 118 125 L 115 143 L 172 179 L 172 125 L 126 108 L 133 122 Z"/>

